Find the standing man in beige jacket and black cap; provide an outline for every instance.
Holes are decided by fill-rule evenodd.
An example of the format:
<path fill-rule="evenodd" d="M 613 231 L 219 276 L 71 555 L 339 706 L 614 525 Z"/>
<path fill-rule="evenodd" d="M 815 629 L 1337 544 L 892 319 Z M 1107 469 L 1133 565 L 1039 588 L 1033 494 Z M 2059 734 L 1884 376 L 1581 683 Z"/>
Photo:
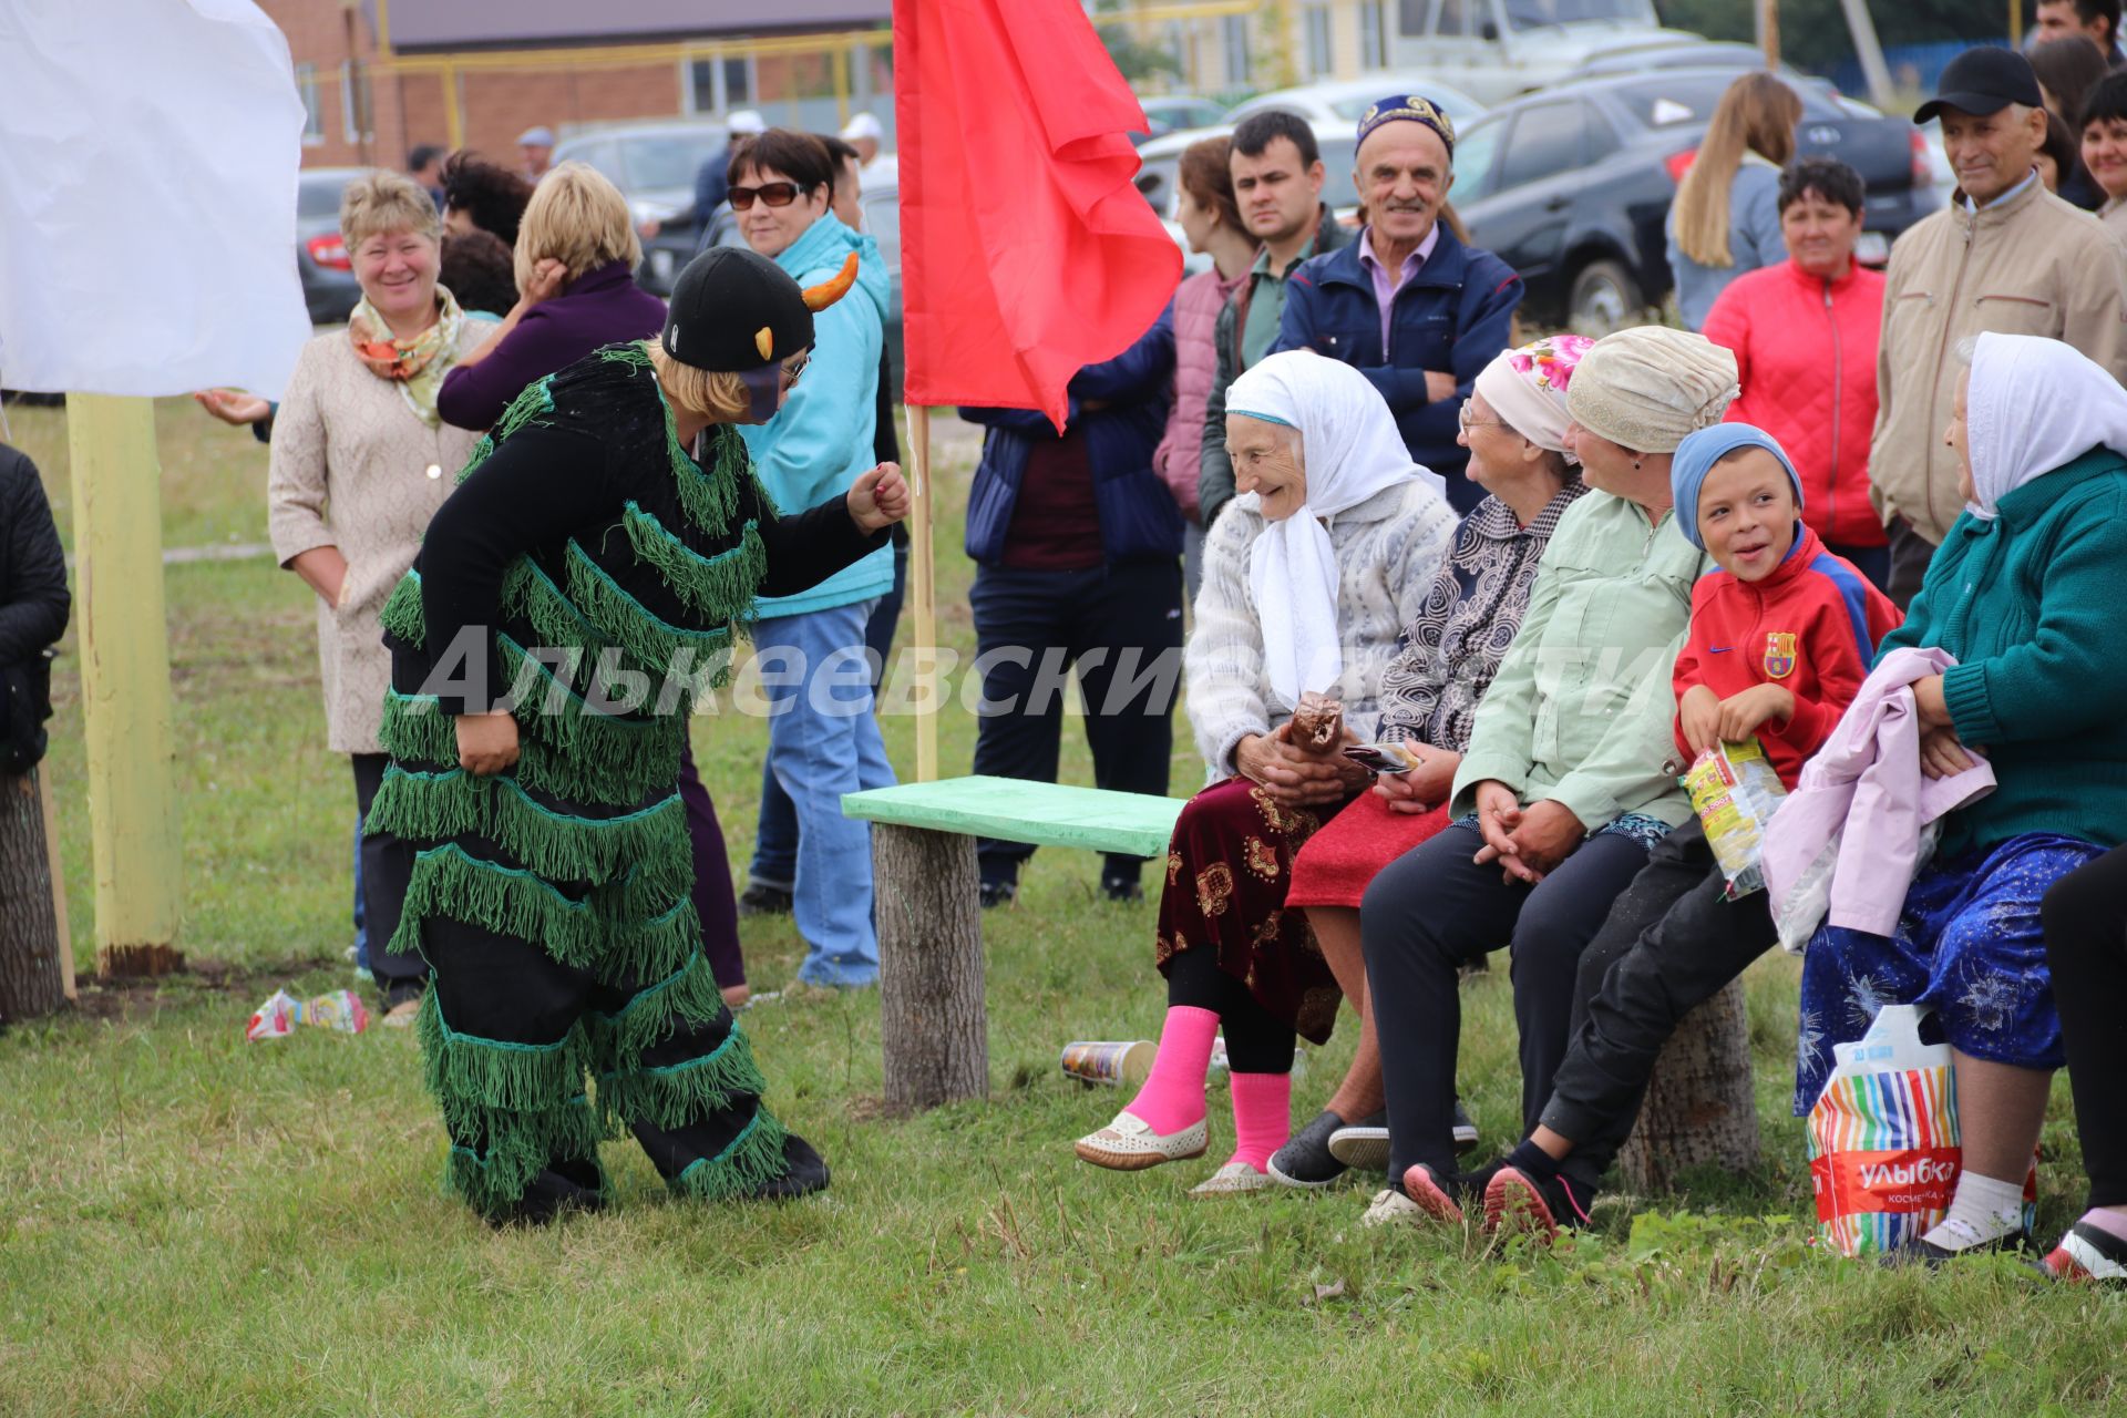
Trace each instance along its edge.
<path fill-rule="evenodd" d="M 1942 442 L 1965 368 L 1957 347 L 1984 332 L 2050 336 L 2127 376 L 2127 247 L 2038 181 L 2046 108 L 2031 62 L 1967 49 L 1914 121 L 1938 115 L 1959 191 L 1891 249 L 1876 355 L 1870 480 L 1899 606 L 1963 510 Z"/>

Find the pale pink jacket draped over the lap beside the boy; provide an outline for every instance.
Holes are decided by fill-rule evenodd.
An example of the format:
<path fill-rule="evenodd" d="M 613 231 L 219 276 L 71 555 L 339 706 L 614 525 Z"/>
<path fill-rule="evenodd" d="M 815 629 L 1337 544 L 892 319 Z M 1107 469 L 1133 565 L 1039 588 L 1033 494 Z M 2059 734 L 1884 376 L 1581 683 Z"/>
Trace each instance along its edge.
<path fill-rule="evenodd" d="M 1921 714 L 1912 682 L 1957 663 L 1944 651 L 1899 648 L 1861 682 L 1831 738 L 1802 767 L 1765 829 L 1765 891 L 1785 899 L 1804 870 L 1838 842 L 1829 925 L 1889 935 L 1919 874 L 1921 829 L 1993 791 L 1993 767 L 1955 778 L 1921 772 Z"/>

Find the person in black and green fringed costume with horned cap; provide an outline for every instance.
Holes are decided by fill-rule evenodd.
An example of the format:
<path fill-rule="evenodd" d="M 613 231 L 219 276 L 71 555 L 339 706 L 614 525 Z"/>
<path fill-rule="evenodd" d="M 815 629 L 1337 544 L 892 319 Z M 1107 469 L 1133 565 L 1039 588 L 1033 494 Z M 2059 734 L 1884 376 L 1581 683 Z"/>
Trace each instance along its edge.
<path fill-rule="evenodd" d="M 804 368 L 813 310 L 751 251 L 681 274 L 664 336 L 530 385 L 474 449 L 385 608 L 391 755 L 368 831 L 413 859 L 393 948 L 449 1186 L 502 1225 L 608 1197 L 632 1131 L 670 1191 L 798 1197 L 827 1165 L 761 1105 L 693 914 L 679 753 L 757 595 L 885 544 L 893 463 L 781 517 L 736 423 Z M 689 449 L 693 449 L 689 453 Z"/>

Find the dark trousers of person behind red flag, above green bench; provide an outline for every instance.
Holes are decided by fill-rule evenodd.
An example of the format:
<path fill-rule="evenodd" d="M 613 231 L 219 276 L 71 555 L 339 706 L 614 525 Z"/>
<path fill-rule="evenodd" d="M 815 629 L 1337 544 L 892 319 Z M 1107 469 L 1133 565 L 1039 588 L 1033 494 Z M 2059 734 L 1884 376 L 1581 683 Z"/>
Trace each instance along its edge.
<path fill-rule="evenodd" d="M 1146 557 L 1087 572 L 983 565 L 968 604 L 987 702 L 976 723 L 976 774 L 1057 780 L 1061 674 L 1072 668 L 1085 693 L 1093 782 L 1166 797 L 1180 691 L 1180 561 Z M 985 882 L 1017 882 L 1032 855 L 1023 842 L 976 844 Z M 1102 880 L 1136 882 L 1142 863 L 1110 855 Z"/>

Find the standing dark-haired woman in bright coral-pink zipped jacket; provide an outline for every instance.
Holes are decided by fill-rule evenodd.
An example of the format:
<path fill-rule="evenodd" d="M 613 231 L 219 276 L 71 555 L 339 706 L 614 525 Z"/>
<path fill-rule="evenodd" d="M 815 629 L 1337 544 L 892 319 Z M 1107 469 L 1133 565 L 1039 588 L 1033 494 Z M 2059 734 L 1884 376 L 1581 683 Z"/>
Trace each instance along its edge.
<path fill-rule="evenodd" d="M 1729 423 L 1772 434 L 1802 474 L 1802 521 L 1878 587 L 1891 574 L 1870 502 L 1882 272 L 1855 261 L 1863 185 L 1833 157 L 1780 174 L 1787 259 L 1736 276 L 1706 315 L 1706 338 L 1736 351 L 1742 395 Z"/>

